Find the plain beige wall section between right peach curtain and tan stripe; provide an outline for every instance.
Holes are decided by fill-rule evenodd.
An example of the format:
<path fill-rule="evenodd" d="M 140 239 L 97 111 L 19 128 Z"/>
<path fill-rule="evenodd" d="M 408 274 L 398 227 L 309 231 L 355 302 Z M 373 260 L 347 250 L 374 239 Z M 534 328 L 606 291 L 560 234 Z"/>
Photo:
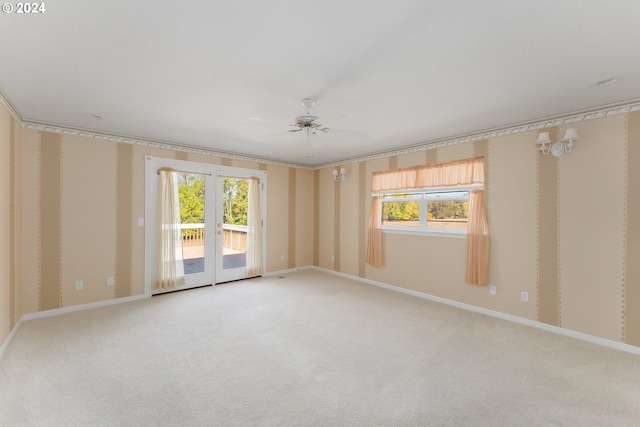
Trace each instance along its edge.
<path fill-rule="evenodd" d="M 535 140 L 534 132 L 491 139 L 487 157 L 490 272 L 497 291 L 488 307 L 528 319 L 536 318 Z M 529 292 L 528 303 L 520 301 L 521 291 Z"/>

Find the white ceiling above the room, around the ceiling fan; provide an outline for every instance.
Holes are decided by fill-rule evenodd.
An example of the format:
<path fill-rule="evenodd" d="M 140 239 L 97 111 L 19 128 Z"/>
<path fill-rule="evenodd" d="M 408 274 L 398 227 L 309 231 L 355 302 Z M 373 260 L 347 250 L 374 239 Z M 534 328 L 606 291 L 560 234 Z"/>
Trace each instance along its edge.
<path fill-rule="evenodd" d="M 24 120 L 299 165 L 640 97 L 638 0 L 45 7 L 0 16 L 0 89 Z M 287 132 L 306 97 L 323 148 Z"/>

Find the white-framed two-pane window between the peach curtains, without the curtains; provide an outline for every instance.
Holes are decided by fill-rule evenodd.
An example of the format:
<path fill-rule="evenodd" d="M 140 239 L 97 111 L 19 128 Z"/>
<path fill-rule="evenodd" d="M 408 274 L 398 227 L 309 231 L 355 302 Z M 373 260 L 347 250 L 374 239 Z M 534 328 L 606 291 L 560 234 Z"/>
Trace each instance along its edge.
<path fill-rule="evenodd" d="M 389 193 L 380 201 L 384 230 L 466 234 L 468 189 Z"/>

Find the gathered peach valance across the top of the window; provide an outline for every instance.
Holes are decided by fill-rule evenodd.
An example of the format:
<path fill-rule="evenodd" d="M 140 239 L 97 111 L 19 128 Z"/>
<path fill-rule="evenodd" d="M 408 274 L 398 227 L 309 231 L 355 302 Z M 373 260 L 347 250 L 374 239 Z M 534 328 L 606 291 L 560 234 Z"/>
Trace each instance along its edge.
<path fill-rule="evenodd" d="M 416 190 L 484 184 L 484 157 L 373 172 L 371 191 Z"/>

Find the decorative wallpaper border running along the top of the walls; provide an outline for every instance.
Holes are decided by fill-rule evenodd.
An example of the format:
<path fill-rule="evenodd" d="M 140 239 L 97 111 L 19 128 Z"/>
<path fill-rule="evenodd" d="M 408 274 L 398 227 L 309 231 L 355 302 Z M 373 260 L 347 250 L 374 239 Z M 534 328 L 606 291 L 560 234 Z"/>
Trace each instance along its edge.
<path fill-rule="evenodd" d="M 516 133 L 528 132 L 531 130 L 543 129 L 552 126 L 561 126 L 568 123 L 581 122 L 585 120 L 598 119 L 603 117 L 614 116 L 618 114 L 627 114 L 635 111 L 640 111 L 640 98 L 634 98 L 626 101 L 619 101 L 610 104 L 600 105 L 593 108 L 587 108 L 583 110 L 573 111 L 566 114 L 559 114 L 554 116 L 542 117 L 539 119 L 529 120 L 522 123 L 516 123 L 504 127 L 487 129 L 471 134 L 460 135 L 453 138 L 443 138 L 434 141 L 426 141 L 421 144 L 411 145 L 408 147 L 402 147 L 397 150 L 381 151 L 361 157 L 354 157 L 350 159 L 340 160 L 337 162 L 322 164 L 318 166 L 308 166 L 296 163 L 279 162 L 272 159 L 261 159 L 257 157 L 245 156 L 236 153 L 227 153 L 224 151 L 215 151 L 202 147 L 196 147 L 191 145 L 176 144 L 166 141 L 156 141 L 149 139 L 134 138 L 125 135 L 108 134 L 104 132 L 97 132 L 88 129 L 78 129 L 68 126 L 61 126 L 51 123 L 37 122 L 33 120 L 23 119 L 16 108 L 13 106 L 7 96 L 0 90 L 0 104 L 2 104 L 13 118 L 20 123 L 24 129 L 37 130 L 41 132 L 59 133 L 62 135 L 74 135 L 85 138 L 94 138 L 112 142 L 119 142 L 123 144 L 142 145 L 152 148 L 162 148 L 166 150 L 180 151 L 193 154 L 201 154 L 205 156 L 214 156 L 234 160 L 245 160 L 257 163 L 266 163 L 274 166 L 284 166 L 307 170 L 316 170 L 326 167 L 333 167 L 338 165 L 358 163 L 367 160 L 375 160 L 384 157 L 398 156 L 401 154 L 415 153 L 418 151 L 431 150 L 434 148 L 447 147 L 450 145 L 465 144 L 469 142 L 481 141 L 483 139 L 496 138 L 504 135 L 512 135 Z"/>

